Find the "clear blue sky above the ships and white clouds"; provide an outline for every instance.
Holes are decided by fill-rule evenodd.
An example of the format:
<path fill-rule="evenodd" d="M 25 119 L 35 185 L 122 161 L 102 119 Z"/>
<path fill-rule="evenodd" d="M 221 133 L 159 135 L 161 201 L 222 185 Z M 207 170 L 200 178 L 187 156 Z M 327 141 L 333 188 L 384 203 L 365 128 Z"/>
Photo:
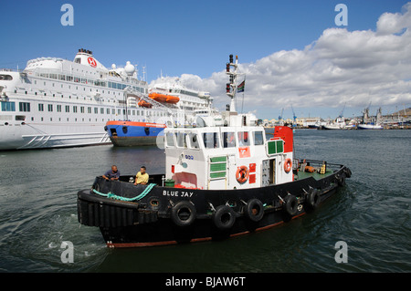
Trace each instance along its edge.
<path fill-rule="evenodd" d="M 60 24 L 65 3 L 74 7 L 74 26 Z M 339 3 L 348 7 L 348 26 L 334 23 Z M 106 67 L 124 66 L 128 60 L 138 64 L 140 72 L 146 66 L 149 82 L 161 71 L 207 79 L 224 70 L 229 54 L 253 64 L 281 50 L 303 50 L 328 28 L 375 31 L 380 16 L 400 13 L 403 5 L 406 1 L 2 1 L 0 68 L 24 68 L 36 57 L 73 59 L 83 47 Z M 401 101 L 396 104 L 400 108 L 405 103 Z M 293 107 L 298 115 L 324 118 L 342 109 L 341 104 L 300 107 L 298 100 Z M 277 118 L 280 109 L 261 107 L 257 112 L 261 118 Z M 386 104 L 385 111 L 389 109 L 395 105 Z M 347 104 L 346 116 L 360 110 Z M 285 115 L 291 116 L 290 109 Z"/>

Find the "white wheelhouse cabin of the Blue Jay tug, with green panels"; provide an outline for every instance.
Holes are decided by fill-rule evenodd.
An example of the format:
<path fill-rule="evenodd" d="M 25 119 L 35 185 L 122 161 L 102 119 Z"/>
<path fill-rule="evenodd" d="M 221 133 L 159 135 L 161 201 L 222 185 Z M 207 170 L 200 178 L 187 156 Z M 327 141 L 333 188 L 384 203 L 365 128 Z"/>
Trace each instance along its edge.
<path fill-rule="evenodd" d="M 253 120 L 252 115 L 236 116 Z M 233 123 L 233 122 L 231 122 Z M 166 179 L 178 187 L 247 189 L 292 182 L 292 130 L 267 140 L 263 127 L 165 129 Z"/>

